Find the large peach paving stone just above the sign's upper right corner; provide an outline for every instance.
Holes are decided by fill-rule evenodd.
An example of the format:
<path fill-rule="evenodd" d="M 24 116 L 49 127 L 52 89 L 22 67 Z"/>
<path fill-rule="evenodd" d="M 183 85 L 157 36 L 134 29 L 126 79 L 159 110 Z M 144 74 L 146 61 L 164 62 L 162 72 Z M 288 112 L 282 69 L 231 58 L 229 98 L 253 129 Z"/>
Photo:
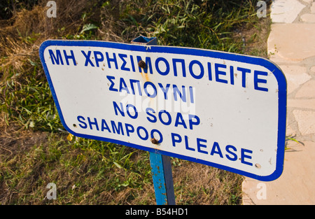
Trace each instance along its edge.
<path fill-rule="evenodd" d="M 301 62 L 315 56 L 315 24 L 272 24 L 267 41 L 273 62 Z"/>

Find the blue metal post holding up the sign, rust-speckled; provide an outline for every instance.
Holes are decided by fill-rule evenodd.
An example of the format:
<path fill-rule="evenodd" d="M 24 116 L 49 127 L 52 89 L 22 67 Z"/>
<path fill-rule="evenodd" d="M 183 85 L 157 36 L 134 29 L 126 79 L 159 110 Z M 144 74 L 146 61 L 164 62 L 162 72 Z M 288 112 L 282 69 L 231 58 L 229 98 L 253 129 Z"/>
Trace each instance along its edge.
<path fill-rule="evenodd" d="M 131 43 L 139 45 L 157 45 L 157 38 L 139 36 L 137 38 L 134 38 Z M 161 155 L 158 150 L 155 150 L 153 152 L 150 152 L 150 164 L 155 190 L 156 204 L 174 205 L 175 195 L 170 157 L 166 155 Z"/>

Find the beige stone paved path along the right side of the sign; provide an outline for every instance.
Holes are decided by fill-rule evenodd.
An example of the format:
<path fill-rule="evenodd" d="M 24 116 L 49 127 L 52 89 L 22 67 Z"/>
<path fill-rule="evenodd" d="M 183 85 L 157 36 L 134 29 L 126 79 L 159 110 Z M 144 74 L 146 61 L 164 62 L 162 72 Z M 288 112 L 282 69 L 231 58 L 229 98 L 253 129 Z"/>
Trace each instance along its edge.
<path fill-rule="evenodd" d="M 271 182 L 246 178 L 243 204 L 315 204 L 315 2 L 274 0 L 270 60 L 288 83 L 288 141 L 283 174 Z M 263 19 L 263 18 L 260 18 Z"/>

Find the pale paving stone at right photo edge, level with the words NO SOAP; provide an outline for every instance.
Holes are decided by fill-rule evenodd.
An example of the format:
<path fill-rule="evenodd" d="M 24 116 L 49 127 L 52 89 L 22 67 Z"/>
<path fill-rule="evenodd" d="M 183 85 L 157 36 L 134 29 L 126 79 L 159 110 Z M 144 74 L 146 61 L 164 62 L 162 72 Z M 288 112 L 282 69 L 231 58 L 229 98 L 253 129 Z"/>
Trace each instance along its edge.
<path fill-rule="evenodd" d="M 293 115 L 302 135 L 315 134 L 315 112 L 294 110 Z"/>

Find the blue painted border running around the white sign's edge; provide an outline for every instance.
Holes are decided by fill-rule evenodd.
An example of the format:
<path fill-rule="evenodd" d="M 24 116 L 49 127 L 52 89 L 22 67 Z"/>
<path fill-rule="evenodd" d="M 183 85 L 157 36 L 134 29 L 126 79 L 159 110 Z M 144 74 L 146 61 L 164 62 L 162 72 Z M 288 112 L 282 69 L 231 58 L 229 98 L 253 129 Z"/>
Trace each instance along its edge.
<path fill-rule="evenodd" d="M 265 68 L 269 69 L 269 71 L 271 71 L 274 74 L 279 85 L 278 143 L 277 143 L 277 151 L 276 151 L 276 170 L 269 176 L 258 176 L 255 174 L 248 173 L 246 171 L 241 171 L 239 169 L 235 169 L 232 167 L 226 167 L 224 165 L 216 164 L 213 162 L 207 162 L 204 160 L 196 159 L 194 157 L 178 155 L 178 154 L 170 153 L 167 151 L 156 150 L 154 148 L 147 148 L 144 146 L 139 146 L 133 143 L 125 142 L 125 141 L 118 141 L 115 139 L 108 139 L 108 138 L 99 137 L 99 136 L 90 136 L 87 134 L 77 134 L 76 132 L 73 132 L 71 129 L 69 129 L 69 127 L 67 127 L 66 123 L 64 122 L 64 117 L 62 115 L 62 111 L 59 106 L 59 101 L 57 99 L 55 89 L 52 85 L 50 74 L 45 64 L 45 59 L 43 57 L 45 48 L 47 48 L 50 45 L 89 46 L 89 47 L 115 48 L 115 49 L 120 49 L 120 50 L 132 50 L 132 51 L 139 51 L 139 52 L 163 52 L 163 53 L 172 53 L 172 54 L 196 55 L 196 56 L 214 57 L 214 58 L 219 58 L 219 59 L 226 59 L 226 60 L 231 60 L 231 61 L 244 62 L 248 64 L 264 66 Z M 75 136 L 87 138 L 87 139 L 99 140 L 99 141 L 106 141 L 106 142 L 111 142 L 111 143 L 118 143 L 125 146 L 130 146 L 132 148 L 138 148 L 138 149 L 146 150 L 149 152 L 160 153 L 162 155 L 167 155 L 169 157 L 178 157 L 179 159 L 206 164 L 211 167 L 224 169 L 226 171 L 231 171 L 236 174 L 248 176 L 250 178 L 255 178 L 259 181 L 274 181 L 276 178 L 279 178 L 279 176 L 281 176 L 282 174 L 283 161 L 284 161 L 284 147 L 285 147 L 285 141 L 286 141 L 286 95 L 287 95 L 286 86 L 287 84 L 286 84 L 286 78 L 283 72 L 281 71 L 281 69 L 278 66 L 276 66 L 276 64 L 274 64 L 273 62 L 270 62 L 268 59 L 265 59 L 262 57 L 253 57 L 253 56 L 248 56 L 248 55 L 239 55 L 239 54 L 230 53 L 230 52 L 219 52 L 219 51 L 214 51 L 214 50 L 204 50 L 204 49 L 197 49 L 197 48 L 181 48 L 181 47 L 156 46 L 156 45 L 145 46 L 145 45 L 135 45 L 135 44 L 127 44 L 127 43 L 113 43 L 113 42 L 106 42 L 106 41 L 64 41 L 64 40 L 44 41 L 41 44 L 41 47 L 39 48 L 39 56 L 41 58 L 41 63 L 43 64 L 45 76 L 47 77 L 50 90 L 52 92 L 52 97 L 55 101 L 55 105 L 57 107 L 57 111 L 59 113 L 59 117 L 62 122 L 62 125 L 64 125 L 65 129 L 69 133 Z"/>

